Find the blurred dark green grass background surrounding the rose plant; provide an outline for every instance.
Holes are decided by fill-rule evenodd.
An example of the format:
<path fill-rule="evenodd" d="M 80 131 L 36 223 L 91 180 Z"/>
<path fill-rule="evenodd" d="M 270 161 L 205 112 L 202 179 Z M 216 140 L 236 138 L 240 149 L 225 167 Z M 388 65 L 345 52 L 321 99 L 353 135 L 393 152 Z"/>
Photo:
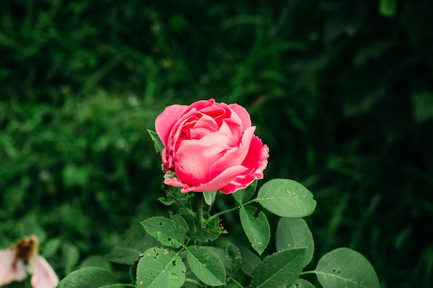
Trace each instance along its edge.
<path fill-rule="evenodd" d="M 315 195 L 311 269 L 350 247 L 382 287 L 430 287 L 432 10 L 429 0 L 1 0 L 0 248 L 36 233 L 61 277 L 101 265 L 127 278 L 104 254 L 140 220 L 167 215 L 146 129 L 167 105 L 213 97 L 250 111 L 270 147 L 265 180 Z M 236 221 L 228 215 L 225 237 Z"/>

